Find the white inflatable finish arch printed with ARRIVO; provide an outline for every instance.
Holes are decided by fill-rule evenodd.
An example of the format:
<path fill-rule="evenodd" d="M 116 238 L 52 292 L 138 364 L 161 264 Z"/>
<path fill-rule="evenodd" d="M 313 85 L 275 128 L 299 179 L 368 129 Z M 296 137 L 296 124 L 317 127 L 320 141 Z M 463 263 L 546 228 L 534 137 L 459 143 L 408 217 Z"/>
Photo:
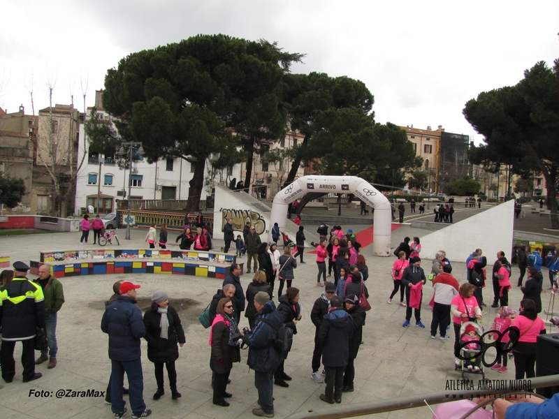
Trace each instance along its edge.
<path fill-rule="evenodd" d="M 361 177 L 299 177 L 274 197 L 270 224 L 277 223 L 280 229 L 284 228 L 289 204 L 310 192 L 353 193 L 357 198 L 375 208 L 372 252 L 375 256 L 389 256 L 392 232 L 392 213 L 389 200 Z"/>

